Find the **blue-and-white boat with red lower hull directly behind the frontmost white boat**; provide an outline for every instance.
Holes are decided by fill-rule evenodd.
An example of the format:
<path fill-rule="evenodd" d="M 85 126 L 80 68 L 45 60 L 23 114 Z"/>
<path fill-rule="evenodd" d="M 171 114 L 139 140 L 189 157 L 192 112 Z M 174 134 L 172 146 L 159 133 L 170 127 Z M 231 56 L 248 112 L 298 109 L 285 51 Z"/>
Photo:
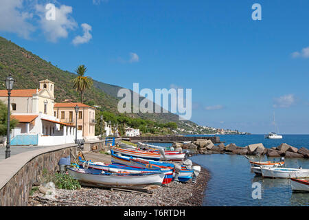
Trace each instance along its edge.
<path fill-rule="evenodd" d="M 79 165 L 82 168 L 90 168 L 96 170 L 104 170 L 110 173 L 156 173 L 157 170 L 140 168 L 135 166 L 124 166 L 124 165 L 116 165 L 116 164 L 104 164 L 102 162 L 90 162 L 86 160 L 79 159 Z M 173 170 L 166 168 L 160 169 L 163 173 L 165 173 L 165 177 L 163 179 L 162 184 L 169 184 L 172 181 Z"/>

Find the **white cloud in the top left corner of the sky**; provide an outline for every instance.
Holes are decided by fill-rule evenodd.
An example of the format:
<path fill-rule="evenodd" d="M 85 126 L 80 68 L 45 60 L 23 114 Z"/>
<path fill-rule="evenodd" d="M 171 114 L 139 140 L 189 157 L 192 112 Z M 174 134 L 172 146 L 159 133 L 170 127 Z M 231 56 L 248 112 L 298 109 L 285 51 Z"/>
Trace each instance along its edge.
<path fill-rule="evenodd" d="M 21 11 L 23 0 L 1 0 L 0 4 L 0 31 L 16 33 L 29 39 L 34 32 L 34 26 L 27 20 L 32 19 L 33 14 Z"/>

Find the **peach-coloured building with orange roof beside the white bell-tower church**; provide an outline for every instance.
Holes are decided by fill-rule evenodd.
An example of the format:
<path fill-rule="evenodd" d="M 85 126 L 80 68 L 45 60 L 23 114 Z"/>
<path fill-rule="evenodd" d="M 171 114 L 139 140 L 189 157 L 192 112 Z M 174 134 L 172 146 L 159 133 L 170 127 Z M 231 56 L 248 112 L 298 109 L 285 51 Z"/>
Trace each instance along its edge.
<path fill-rule="evenodd" d="M 54 117 L 60 122 L 76 124 L 75 107 L 78 105 L 77 115 L 78 131 L 81 131 L 82 137 L 87 140 L 96 139 L 95 137 L 95 108 L 81 102 L 67 102 L 54 104 Z"/>

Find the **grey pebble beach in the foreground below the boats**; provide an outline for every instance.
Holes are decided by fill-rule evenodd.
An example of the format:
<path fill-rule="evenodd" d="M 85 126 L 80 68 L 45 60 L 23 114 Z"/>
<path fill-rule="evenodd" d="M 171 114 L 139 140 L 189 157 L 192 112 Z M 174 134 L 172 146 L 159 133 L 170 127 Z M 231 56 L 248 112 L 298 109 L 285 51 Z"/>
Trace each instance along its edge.
<path fill-rule="evenodd" d="M 28 206 L 202 206 L 208 179 L 209 173 L 202 167 L 195 184 L 191 180 L 179 184 L 172 181 L 152 190 L 152 194 L 84 186 L 80 190 L 56 189 L 54 199 L 34 192 Z"/>

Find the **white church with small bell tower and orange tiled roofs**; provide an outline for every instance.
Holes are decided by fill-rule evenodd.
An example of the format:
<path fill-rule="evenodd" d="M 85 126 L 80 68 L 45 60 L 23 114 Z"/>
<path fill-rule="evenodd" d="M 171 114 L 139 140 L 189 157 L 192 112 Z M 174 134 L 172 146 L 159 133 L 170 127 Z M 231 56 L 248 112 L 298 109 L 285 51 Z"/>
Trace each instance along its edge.
<path fill-rule="evenodd" d="M 54 84 L 46 79 L 39 89 L 13 89 L 12 118 L 19 121 L 11 135 L 12 145 L 57 145 L 75 140 L 75 126 L 54 117 Z M 8 103 L 8 91 L 0 90 L 0 100 Z M 78 133 L 78 137 L 81 134 Z"/>

